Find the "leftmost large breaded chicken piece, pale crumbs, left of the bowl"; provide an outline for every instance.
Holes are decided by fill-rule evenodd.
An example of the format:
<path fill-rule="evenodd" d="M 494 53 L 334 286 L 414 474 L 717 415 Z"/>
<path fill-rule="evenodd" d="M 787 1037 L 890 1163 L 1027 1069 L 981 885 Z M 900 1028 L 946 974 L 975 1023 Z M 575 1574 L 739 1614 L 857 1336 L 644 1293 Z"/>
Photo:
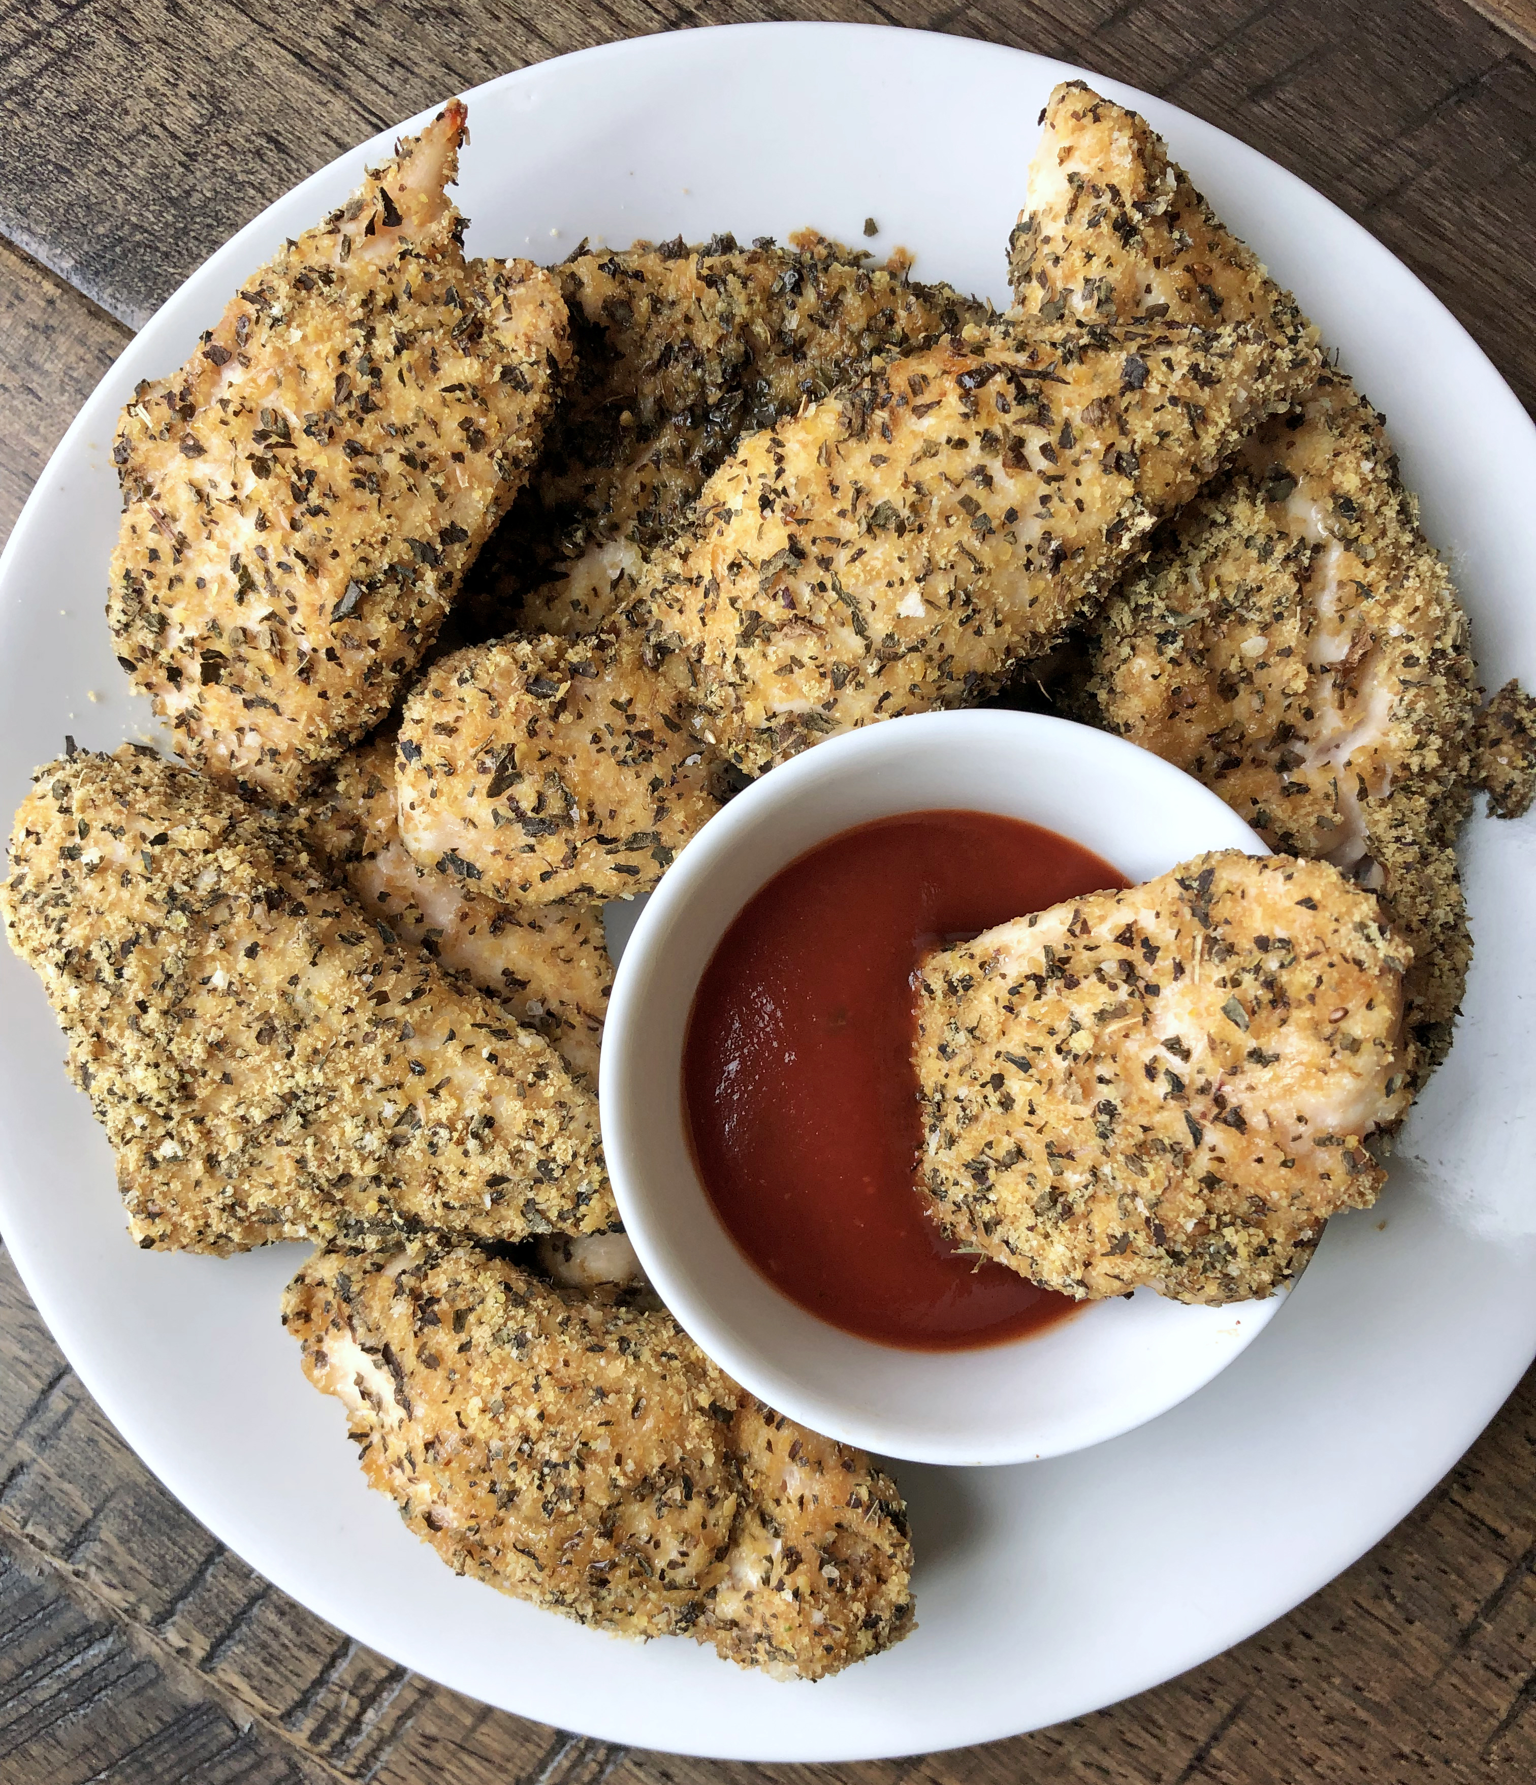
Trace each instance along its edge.
<path fill-rule="evenodd" d="M 23 801 L 0 907 L 141 1246 L 615 1223 L 592 1092 L 387 939 L 291 819 L 145 746 L 80 753 Z"/>

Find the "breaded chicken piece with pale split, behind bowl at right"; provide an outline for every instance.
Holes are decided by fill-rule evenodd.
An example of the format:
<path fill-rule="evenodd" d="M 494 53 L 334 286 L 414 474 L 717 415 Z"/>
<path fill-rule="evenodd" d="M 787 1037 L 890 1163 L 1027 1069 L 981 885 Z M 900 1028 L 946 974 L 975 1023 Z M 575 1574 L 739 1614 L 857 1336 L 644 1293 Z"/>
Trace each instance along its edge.
<path fill-rule="evenodd" d="M 1101 723 L 1195 775 L 1272 848 L 1381 892 L 1413 950 L 1427 1071 L 1472 955 L 1456 864 L 1466 618 L 1370 403 L 1329 373 L 1288 419 L 1106 605 L 1088 691 Z"/>

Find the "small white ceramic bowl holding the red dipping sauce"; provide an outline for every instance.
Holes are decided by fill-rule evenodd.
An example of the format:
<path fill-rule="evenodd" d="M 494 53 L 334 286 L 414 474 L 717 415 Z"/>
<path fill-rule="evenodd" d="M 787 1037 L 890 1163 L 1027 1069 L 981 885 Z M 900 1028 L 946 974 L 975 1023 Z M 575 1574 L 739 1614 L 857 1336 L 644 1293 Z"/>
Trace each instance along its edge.
<path fill-rule="evenodd" d="M 963 809 L 1044 825 L 1151 880 L 1202 850 L 1265 846 L 1213 793 L 1135 744 L 1024 712 L 942 712 L 830 739 L 739 794 L 687 846 L 623 951 L 603 1030 L 603 1146 L 624 1226 L 662 1299 L 780 1412 L 885 1457 L 1006 1464 L 1129 1432 L 1204 1387 L 1279 1298 L 1190 1308 L 1151 1291 L 1085 1305 L 976 1351 L 858 1339 L 783 1296 L 698 1180 L 681 1055 L 699 976 L 781 868 L 855 825 Z"/>

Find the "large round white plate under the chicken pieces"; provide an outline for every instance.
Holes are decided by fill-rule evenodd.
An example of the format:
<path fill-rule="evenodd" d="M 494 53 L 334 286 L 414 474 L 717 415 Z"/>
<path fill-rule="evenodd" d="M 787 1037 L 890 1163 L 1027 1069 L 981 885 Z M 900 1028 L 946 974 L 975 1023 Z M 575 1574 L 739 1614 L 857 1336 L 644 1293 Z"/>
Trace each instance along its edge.
<path fill-rule="evenodd" d="M 874 216 L 876 246 L 906 243 L 921 275 L 1001 300 L 1035 118 L 1069 73 L 967 39 L 817 25 L 566 57 L 469 95 L 469 246 L 553 259 L 582 236 L 783 237 L 803 223 L 860 241 Z M 1101 86 L 1167 134 L 1386 411 L 1472 610 L 1482 678 L 1536 680 L 1536 430 L 1513 394 L 1325 200 L 1210 125 Z M 7 814 L 62 732 L 105 748 L 145 723 L 102 619 L 120 403 L 177 366 L 237 280 L 391 137 L 307 180 L 187 280 L 37 484 L 0 564 Z M 148 1465 L 262 1574 L 396 1662 L 648 1748 L 837 1760 L 990 1740 L 1165 1680 L 1306 1598 L 1450 1467 L 1536 1351 L 1536 823 L 1474 823 L 1466 878 L 1477 960 L 1459 1041 L 1379 1208 L 1334 1221 L 1270 1328 L 1161 1419 L 1053 1462 L 906 1465 L 921 1628 L 815 1687 L 690 1642 L 594 1635 L 455 1578 L 405 1535 L 278 1324 L 298 1251 L 219 1262 L 127 1242 L 43 992 L 4 950 L 0 1221 L 43 1317 Z"/>

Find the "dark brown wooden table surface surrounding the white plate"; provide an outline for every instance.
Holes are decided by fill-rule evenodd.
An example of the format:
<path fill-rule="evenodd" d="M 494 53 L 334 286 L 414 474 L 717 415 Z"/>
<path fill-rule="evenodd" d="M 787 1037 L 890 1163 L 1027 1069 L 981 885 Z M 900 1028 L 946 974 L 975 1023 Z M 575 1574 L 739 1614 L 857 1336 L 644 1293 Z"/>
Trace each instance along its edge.
<path fill-rule="evenodd" d="M 503 70 L 751 18 L 987 37 L 1163 95 L 1359 218 L 1536 407 L 1536 0 L 32 0 L 0 9 L 0 537 L 132 330 L 298 178 Z M 744 1767 L 485 1710 L 285 1599 L 134 1458 L 0 1253 L 5 1785 L 749 1778 L 1536 1780 L 1536 1371 L 1370 1555 L 1206 1667 L 988 1748 Z"/>

